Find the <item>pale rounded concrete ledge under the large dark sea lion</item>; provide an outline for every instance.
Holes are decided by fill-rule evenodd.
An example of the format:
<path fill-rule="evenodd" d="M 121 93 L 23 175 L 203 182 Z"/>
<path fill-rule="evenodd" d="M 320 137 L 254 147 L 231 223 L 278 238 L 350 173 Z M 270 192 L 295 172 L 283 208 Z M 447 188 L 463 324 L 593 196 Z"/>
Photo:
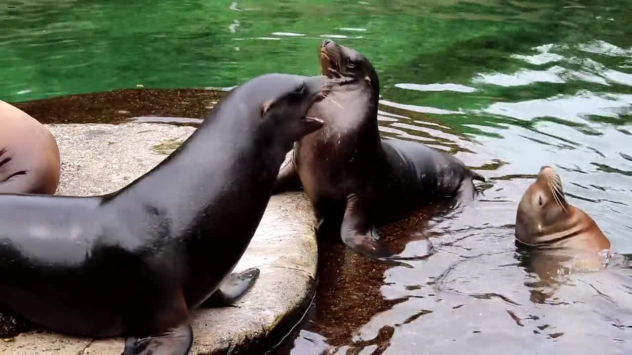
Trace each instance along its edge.
<path fill-rule="evenodd" d="M 195 130 L 167 124 L 52 124 L 61 153 L 58 194 L 98 195 L 144 174 Z M 258 267 L 238 308 L 193 313 L 191 354 L 245 354 L 276 344 L 309 305 L 317 267 L 310 202 L 301 193 L 273 196 L 235 271 Z M 123 339 L 81 339 L 33 330 L 0 342 L 0 354 L 119 355 Z"/>

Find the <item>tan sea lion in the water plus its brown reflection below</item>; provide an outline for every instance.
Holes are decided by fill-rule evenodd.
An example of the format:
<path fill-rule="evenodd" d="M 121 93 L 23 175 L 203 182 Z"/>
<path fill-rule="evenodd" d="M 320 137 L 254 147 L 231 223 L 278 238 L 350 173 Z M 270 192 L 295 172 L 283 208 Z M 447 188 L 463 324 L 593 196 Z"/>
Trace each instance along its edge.
<path fill-rule="evenodd" d="M 516 244 L 525 251 L 521 263 L 539 280 L 532 286 L 532 301 L 550 298 L 574 272 L 596 271 L 610 257 L 610 241 L 595 220 L 564 196 L 562 180 L 550 166 L 522 196 L 516 211 Z"/>

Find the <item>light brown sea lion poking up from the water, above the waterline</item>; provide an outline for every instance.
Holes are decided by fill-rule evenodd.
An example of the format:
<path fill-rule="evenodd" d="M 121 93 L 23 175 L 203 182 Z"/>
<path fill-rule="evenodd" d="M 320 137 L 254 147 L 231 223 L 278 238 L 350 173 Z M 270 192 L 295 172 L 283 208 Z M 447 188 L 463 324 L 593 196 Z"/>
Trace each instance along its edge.
<path fill-rule="evenodd" d="M 516 239 L 539 249 L 610 249 L 597 223 L 566 201 L 562 180 L 550 166 L 540 169 L 518 204 Z"/>

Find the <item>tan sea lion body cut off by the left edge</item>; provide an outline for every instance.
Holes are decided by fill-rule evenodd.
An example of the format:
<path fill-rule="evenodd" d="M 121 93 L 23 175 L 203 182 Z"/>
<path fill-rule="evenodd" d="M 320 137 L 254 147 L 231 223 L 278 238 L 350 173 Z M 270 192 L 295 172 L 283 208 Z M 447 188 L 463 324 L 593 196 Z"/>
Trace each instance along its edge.
<path fill-rule="evenodd" d="M 53 195 L 61 174 L 59 160 L 51 131 L 0 100 L 0 193 Z"/>

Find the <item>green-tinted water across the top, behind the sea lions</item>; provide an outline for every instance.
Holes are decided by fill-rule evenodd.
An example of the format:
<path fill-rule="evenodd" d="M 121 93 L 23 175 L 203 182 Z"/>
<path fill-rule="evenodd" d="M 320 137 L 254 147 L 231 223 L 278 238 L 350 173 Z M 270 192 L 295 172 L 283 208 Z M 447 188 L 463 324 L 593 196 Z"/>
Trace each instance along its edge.
<path fill-rule="evenodd" d="M 6 3 L 6 0 L 3 1 Z M 628 48 L 629 1 L 8 1 L 0 6 L 0 95 L 9 101 L 135 87 L 228 87 L 270 71 L 317 73 L 323 35 L 361 49 L 384 95 L 446 109 L 599 84 L 485 88 L 423 99 L 406 81 L 468 85 L 542 44 L 593 39 Z M 598 18 L 599 17 L 599 18 Z M 353 30 L 353 29 L 360 29 Z M 277 35 L 296 33 L 300 36 Z M 260 38 L 270 39 L 260 39 Z M 570 49 L 573 52 L 574 49 Z M 614 64 L 612 58 L 608 63 Z M 625 90 L 624 87 L 614 91 Z M 609 90 L 613 91 L 613 90 Z"/>

